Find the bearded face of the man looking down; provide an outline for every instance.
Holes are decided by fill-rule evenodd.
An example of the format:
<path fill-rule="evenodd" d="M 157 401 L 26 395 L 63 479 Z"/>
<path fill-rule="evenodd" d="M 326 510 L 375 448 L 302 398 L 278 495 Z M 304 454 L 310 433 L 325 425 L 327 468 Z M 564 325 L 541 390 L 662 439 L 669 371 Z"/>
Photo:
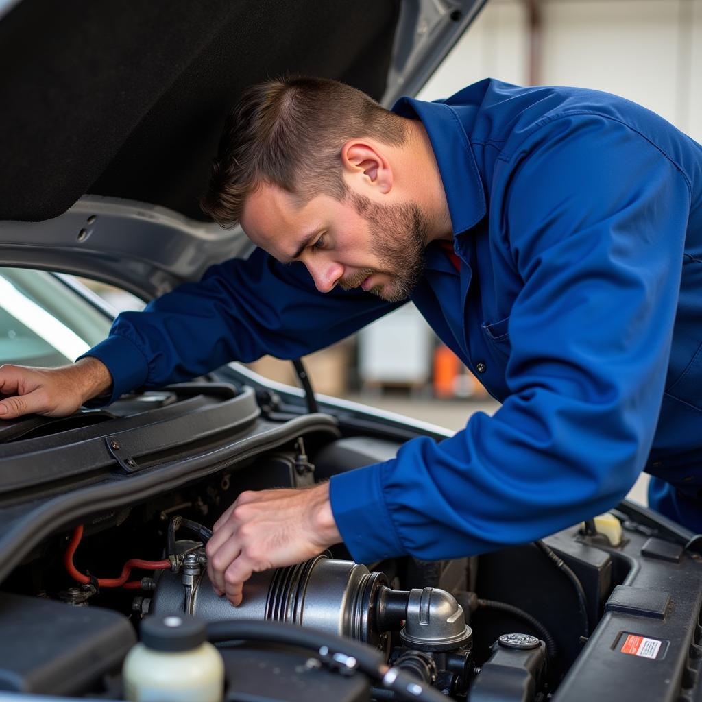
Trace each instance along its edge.
<path fill-rule="evenodd" d="M 399 302 L 424 270 L 427 224 L 411 203 L 378 204 L 350 191 L 343 201 L 318 195 L 300 204 L 262 185 L 246 200 L 241 226 L 274 258 L 301 260 L 323 293 L 338 284 Z"/>

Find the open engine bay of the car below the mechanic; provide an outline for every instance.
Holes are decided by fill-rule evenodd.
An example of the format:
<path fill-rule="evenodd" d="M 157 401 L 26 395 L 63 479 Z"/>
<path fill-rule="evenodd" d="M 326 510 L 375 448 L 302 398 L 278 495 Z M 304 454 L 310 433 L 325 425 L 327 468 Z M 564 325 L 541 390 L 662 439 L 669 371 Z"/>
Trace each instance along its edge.
<path fill-rule="evenodd" d="M 309 486 L 402 443 L 370 417 L 261 399 L 192 383 L 58 426 L 0 426 L 0 690 L 123 699 L 142 622 L 194 617 L 223 658 L 227 701 L 698 694 L 701 557 L 633 503 L 444 562 L 357 564 L 338 545 L 254 574 L 232 607 L 204 545 L 241 491 Z"/>

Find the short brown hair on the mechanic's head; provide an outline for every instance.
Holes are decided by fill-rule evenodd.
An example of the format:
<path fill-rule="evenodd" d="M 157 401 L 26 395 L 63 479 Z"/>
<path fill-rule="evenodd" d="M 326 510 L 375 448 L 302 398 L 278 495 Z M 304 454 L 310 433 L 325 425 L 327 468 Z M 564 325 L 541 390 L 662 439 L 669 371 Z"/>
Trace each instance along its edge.
<path fill-rule="evenodd" d="M 296 76 L 251 86 L 227 117 L 201 207 L 230 228 L 261 183 L 303 202 L 322 193 L 343 199 L 341 147 L 359 137 L 400 145 L 406 127 L 402 117 L 338 81 Z"/>

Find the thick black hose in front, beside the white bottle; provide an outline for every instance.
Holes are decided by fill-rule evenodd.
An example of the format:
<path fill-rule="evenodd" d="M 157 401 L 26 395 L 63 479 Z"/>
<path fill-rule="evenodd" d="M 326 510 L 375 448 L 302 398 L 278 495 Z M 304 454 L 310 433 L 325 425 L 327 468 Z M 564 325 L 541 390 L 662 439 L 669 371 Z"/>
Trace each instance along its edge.
<path fill-rule="evenodd" d="M 209 641 L 260 641 L 287 644 L 315 651 L 326 665 L 347 670 L 360 670 L 373 681 L 379 681 L 399 698 L 423 702 L 446 702 L 439 691 L 428 687 L 410 673 L 390 668 L 380 651 L 349 639 L 296 624 L 239 619 L 207 624 Z"/>

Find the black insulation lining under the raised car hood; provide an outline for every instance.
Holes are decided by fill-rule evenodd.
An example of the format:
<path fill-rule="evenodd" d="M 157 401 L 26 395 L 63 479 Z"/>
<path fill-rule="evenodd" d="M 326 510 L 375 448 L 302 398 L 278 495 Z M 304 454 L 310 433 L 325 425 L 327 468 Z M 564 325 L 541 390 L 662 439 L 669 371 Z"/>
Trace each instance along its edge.
<path fill-rule="evenodd" d="M 0 21 L 0 219 L 86 192 L 205 220 L 199 197 L 247 86 L 336 78 L 379 100 L 399 0 L 23 0 Z"/>

